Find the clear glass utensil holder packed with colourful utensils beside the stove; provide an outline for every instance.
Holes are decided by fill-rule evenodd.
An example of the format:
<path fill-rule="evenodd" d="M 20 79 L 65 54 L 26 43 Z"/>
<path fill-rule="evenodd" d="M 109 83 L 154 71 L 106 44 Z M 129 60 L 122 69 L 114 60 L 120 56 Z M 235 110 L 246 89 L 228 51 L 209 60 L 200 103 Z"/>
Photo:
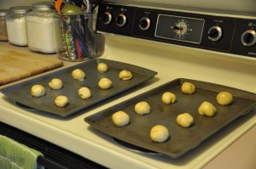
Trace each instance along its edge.
<path fill-rule="evenodd" d="M 104 38 L 93 29 L 93 15 L 55 15 L 55 24 L 60 25 L 60 29 L 55 30 L 55 46 L 59 59 L 84 61 L 102 54 Z"/>

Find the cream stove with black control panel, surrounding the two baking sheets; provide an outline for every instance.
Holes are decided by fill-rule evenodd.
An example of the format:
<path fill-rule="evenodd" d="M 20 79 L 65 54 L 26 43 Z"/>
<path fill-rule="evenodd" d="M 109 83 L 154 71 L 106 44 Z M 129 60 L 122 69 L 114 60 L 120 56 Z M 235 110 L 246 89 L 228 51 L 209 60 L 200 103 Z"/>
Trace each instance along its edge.
<path fill-rule="evenodd" d="M 234 142 L 236 144 L 237 139 L 239 142 L 245 133 L 255 133 L 256 108 L 178 159 L 127 149 L 90 127 L 84 122 L 84 117 L 182 77 L 256 93 L 253 33 L 256 15 L 251 11 L 242 11 L 240 15 L 232 11 L 220 13 L 218 9 L 219 13 L 215 16 L 213 11 L 216 12 L 216 9 L 196 8 L 195 11 L 195 8 L 188 7 L 169 8 L 166 1 L 154 6 L 142 5 L 143 1 L 127 2 L 112 1 L 99 8 L 96 29 L 105 37 L 105 51 L 101 58 L 155 70 L 158 75 L 154 79 L 125 92 L 122 98 L 110 99 L 65 119 L 40 111 L 20 109 L 0 93 L 1 121 L 109 168 L 223 166 L 222 160 L 230 161 L 229 156 L 218 160 L 218 156 L 230 155 L 224 149 Z M 152 4 L 153 1 L 148 2 Z M 209 31 L 211 29 L 212 33 Z M 255 134 L 250 136 L 256 137 Z M 240 146 L 254 153 L 249 154 L 251 156 L 247 154 L 247 159 L 241 155 L 233 155 L 232 158 L 240 159 L 242 166 L 252 167 L 255 146 Z M 213 160 L 215 157 L 218 161 Z M 240 164 L 239 160 L 233 161 L 234 164 Z M 231 163 L 226 165 L 235 167 Z"/>

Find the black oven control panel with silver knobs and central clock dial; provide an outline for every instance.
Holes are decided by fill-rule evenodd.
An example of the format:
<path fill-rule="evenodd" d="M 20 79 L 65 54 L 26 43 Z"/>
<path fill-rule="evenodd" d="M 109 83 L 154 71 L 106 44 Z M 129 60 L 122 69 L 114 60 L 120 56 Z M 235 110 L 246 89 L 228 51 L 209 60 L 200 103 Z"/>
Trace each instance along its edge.
<path fill-rule="evenodd" d="M 96 31 L 256 57 L 256 19 L 103 3 Z"/>

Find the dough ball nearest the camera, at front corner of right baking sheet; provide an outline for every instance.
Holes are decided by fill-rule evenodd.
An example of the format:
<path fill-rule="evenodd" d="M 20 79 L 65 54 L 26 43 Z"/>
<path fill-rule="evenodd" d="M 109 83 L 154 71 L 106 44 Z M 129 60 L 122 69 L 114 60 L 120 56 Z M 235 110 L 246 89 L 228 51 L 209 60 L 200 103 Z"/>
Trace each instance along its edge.
<path fill-rule="evenodd" d="M 150 130 L 150 138 L 154 142 L 163 143 L 169 138 L 169 131 L 162 125 L 156 125 Z"/>

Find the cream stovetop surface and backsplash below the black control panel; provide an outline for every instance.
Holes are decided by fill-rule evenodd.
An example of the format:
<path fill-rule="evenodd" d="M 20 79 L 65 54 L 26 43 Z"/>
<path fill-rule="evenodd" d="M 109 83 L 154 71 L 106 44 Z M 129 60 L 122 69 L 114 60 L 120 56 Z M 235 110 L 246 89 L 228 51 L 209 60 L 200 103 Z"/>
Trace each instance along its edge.
<path fill-rule="evenodd" d="M 143 86 L 137 87 L 137 90 L 124 93 L 122 98 L 110 99 L 67 118 L 22 110 L 0 93 L 0 120 L 110 168 L 256 167 L 256 144 L 253 143 L 256 138 L 256 108 L 177 160 L 165 155 L 148 155 L 125 149 L 84 122 L 84 117 L 88 115 L 179 77 L 214 82 L 256 93 L 255 59 L 198 53 L 197 50 L 183 50 L 171 45 L 145 41 L 141 45 L 142 41 L 126 41 L 125 37 L 107 36 L 106 40 L 106 52 L 102 58 L 140 65 L 157 71 L 158 75 Z M 17 49 L 5 42 L 0 42 L 0 48 L 1 46 Z M 22 50 L 27 52 L 26 48 Z"/>

